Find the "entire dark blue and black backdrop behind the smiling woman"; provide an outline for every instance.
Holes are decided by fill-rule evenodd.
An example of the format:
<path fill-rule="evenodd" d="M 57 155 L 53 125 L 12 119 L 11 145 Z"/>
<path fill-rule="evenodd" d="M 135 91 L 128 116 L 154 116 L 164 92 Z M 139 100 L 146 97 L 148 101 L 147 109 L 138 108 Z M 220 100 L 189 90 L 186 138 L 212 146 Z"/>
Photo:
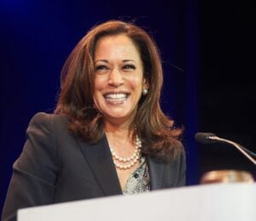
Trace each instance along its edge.
<path fill-rule="evenodd" d="M 67 55 L 91 26 L 109 19 L 143 26 L 159 45 L 161 104 L 185 127 L 188 185 L 217 169 L 255 176 L 238 150 L 194 139 L 212 132 L 256 151 L 255 9 L 253 1 L 0 0 L 0 209 L 29 120 L 54 110 Z"/>

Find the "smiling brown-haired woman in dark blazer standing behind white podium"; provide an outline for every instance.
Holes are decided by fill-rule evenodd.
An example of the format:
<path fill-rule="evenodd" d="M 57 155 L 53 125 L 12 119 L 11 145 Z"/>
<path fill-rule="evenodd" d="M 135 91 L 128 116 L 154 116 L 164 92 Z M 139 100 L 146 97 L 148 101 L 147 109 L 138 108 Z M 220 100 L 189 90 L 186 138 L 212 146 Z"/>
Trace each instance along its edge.
<path fill-rule="evenodd" d="M 3 220 L 22 207 L 184 185 L 182 130 L 160 110 L 162 77 L 143 29 L 92 28 L 63 67 L 55 113 L 29 123 Z"/>

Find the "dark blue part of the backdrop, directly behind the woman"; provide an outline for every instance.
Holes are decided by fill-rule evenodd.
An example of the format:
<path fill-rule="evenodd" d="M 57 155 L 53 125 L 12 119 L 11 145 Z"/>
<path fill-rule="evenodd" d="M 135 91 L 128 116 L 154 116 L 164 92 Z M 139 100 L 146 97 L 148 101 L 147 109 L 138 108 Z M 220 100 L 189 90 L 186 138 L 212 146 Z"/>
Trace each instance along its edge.
<path fill-rule="evenodd" d="M 38 111 L 53 111 L 60 71 L 67 55 L 91 26 L 109 19 L 134 21 L 160 47 L 165 81 L 161 105 L 185 127 L 188 184 L 198 183 L 197 128 L 198 18 L 196 1 L 0 2 L 1 139 L 0 207 L 12 164 Z"/>

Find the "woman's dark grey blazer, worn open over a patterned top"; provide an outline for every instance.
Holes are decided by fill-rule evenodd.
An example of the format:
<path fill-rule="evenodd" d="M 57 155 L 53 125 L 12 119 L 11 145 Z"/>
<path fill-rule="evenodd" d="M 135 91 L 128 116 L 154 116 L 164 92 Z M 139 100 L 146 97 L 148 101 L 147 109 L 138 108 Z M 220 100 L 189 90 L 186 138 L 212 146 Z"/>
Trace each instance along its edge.
<path fill-rule="evenodd" d="M 65 116 L 40 112 L 26 130 L 26 144 L 13 165 L 2 220 L 18 209 L 64 201 L 121 195 L 106 136 L 97 144 L 74 139 Z M 185 184 L 185 156 L 164 163 L 147 156 L 151 190 Z"/>

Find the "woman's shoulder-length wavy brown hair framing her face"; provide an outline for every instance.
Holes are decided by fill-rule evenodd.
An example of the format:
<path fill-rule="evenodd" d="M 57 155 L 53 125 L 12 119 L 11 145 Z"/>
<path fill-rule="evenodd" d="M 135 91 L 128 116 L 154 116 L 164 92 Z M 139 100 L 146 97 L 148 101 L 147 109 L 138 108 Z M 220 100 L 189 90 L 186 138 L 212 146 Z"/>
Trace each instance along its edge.
<path fill-rule="evenodd" d="M 120 20 L 109 20 L 93 27 L 73 49 L 61 71 L 61 93 L 55 114 L 67 116 L 68 129 L 86 142 L 96 143 L 104 134 L 102 115 L 94 108 L 94 54 L 101 37 L 125 34 L 137 46 L 143 60 L 148 94 L 137 107 L 133 127 L 143 141 L 143 153 L 163 159 L 173 159 L 183 150 L 178 141 L 182 129 L 175 128 L 172 119 L 160 109 L 163 83 L 159 49 L 153 37 L 142 28 Z"/>

